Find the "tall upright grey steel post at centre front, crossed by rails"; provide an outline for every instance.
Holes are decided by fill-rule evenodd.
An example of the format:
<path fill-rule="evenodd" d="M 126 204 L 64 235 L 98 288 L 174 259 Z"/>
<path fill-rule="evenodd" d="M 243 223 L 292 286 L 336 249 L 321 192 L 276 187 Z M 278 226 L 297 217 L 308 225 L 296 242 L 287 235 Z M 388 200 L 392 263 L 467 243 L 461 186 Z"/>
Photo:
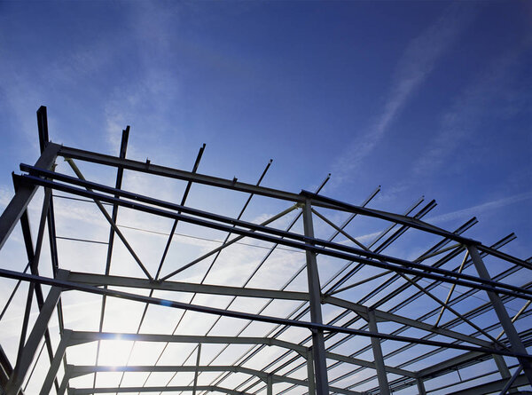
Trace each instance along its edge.
<path fill-rule="evenodd" d="M 303 205 L 303 229 L 305 236 L 314 238 L 312 207 L 309 200 L 306 200 Z M 323 324 L 321 312 L 321 288 L 319 285 L 316 253 L 308 250 L 306 251 L 306 257 L 307 278 L 309 280 L 310 320 L 317 324 Z M 328 395 L 329 381 L 327 379 L 327 363 L 325 359 L 325 339 L 323 330 L 312 330 L 312 353 L 314 356 L 317 395 Z"/>

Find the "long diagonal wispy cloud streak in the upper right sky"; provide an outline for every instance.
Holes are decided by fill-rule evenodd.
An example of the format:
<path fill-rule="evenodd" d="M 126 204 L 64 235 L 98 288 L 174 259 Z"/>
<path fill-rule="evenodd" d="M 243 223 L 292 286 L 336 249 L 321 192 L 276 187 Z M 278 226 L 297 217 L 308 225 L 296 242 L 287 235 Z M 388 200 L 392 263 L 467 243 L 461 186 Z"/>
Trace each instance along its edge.
<path fill-rule="evenodd" d="M 372 122 L 369 130 L 354 139 L 334 163 L 336 184 L 348 178 L 372 153 L 414 91 L 426 80 L 438 60 L 472 19 L 473 12 L 459 4 L 452 4 L 429 28 L 411 40 L 395 68 L 392 88 L 381 114 Z"/>

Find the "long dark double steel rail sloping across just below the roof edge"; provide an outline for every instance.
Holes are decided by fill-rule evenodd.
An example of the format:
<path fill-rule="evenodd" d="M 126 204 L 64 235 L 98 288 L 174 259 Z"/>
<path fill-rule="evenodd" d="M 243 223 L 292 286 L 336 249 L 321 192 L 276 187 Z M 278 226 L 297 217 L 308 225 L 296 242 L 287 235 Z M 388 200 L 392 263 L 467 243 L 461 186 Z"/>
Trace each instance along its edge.
<path fill-rule="evenodd" d="M 64 177 L 67 177 L 67 176 L 64 176 Z M 338 243 L 332 243 L 330 241 L 324 241 L 320 239 L 311 240 L 311 242 L 313 242 L 316 245 L 309 244 L 308 242 L 287 240 L 287 238 L 292 238 L 294 240 L 309 241 L 309 238 L 307 236 L 303 236 L 298 233 L 286 233 L 284 231 L 273 229 L 267 226 L 255 225 L 251 223 L 245 223 L 244 221 L 237 221 L 232 218 L 226 218 L 225 222 L 229 222 L 231 224 L 239 223 L 239 225 L 244 225 L 252 230 L 233 228 L 228 225 L 218 224 L 218 223 L 200 219 L 197 217 L 190 217 L 190 216 L 186 216 L 183 214 L 178 214 L 176 212 L 168 211 L 165 209 L 157 209 L 151 206 L 146 206 L 144 204 L 140 204 L 135 201 L 124 201 L 122 199 L 116 199 L 112 196 L 107 196 L 104 194 L 97 194 L 97 193 L 90 192 L 90 191 L 85 191 L 85 190 L 82 190 L 80 188 L 76 188 L 73 186 L 66 186 L 64 184 L 59 184 L 57 182 L 49 181 L 43 178 L 38 178 L 34 176 L 21 176 L 20 178 L 21 180 L 25 180 L 25 181 L 27 180 L 29 183 L 32 183 L 32 184 L 37 184 L 41 186 L 51 187 L 54 189 L 59 189 L 63 192 L 67 192 L 71 194 L 79 194 L 79 195 L 89 197 L 91 199 L 95 199 L 98 201 L 108 201 L 108 202 L 113 202 L 113 203 L 116 202 L 117 204 L 121 206 L 129 207 L 130 209 L 138 209 L 140 211 L 158 215 L 160 217 L 179 218 L 180 220 L 184 222 L 188 222 L 194 225 L 207 226 L 207 227 L 217 229 L 217 230 L 222 230 L 225 232 L 245 234 L 246 236 L 252 237 L 254 239 L 259 239 L 262 241 L 270 241 L 270 242 L 274 242 L 278 244 L 284 244 L 289 247 L 293 247 L 297 249 L 304 249 L 304 250 L 312 251 L 315 253 L 324 254 L 330 257 L 339 257 L 341 259 L 354 260 L 356 262 L 361 262 L 367 265 L 372 265 L 372 266 L 380 267 L 383 269 L 391 269 L 396 272 L 419 275 L 421 277 L 426 277 L 426 278 L 430 278 L 433 280 L 442 280 L 445 282 L 455 283 L 457 285 L 463 285 L 465 287 L 479 288 L 479 289 L 484 289 L 484 290 L 488 290 L 492 292 L 504 293 L 506 295 L 516 295 L 516 296 L 520 295 L 519 297 L 522 297 L 525 299 L 532 298 L 532 292 L 523 291 L 521 288 L 516 287 L 516 286 L 497 283 L 496 281 L 492 281 L 492 280 L 480 279 L 480 278 L 467 275 L 464 273 L 458 274 L 458 273 L 450 272 L 448 270 L 444 270 L 444 269 L 437 268 L 434 266 L 416 264 L 416 263 L 406 261 L 403 259 L 399 259 L 399 258 L 395 258 L 395 257 L 383 256 L 381 254 L 364 251 L 364 249 L 355 249 L 353 247 L 348 247 L 348 246 L 344 246 Z M 94 183 L 90 183 L 90 184 L 93 185 Z M 124 194 L 123 191 L 121 192 L 117 191 L 117 193 Z M 135 196 L 135 194 L 132 194 L 132 195 Z M 172 205 L 170 203 L 164 203 L 164 204 L 166 206 Z M 174 206 L 177 206 L 177 205 L 174 205 Z M 184 208 L 182 206 L 178 206 L 178 208 L 175 208 L 175 209 L 181 209 L 184 212 L 186 211 L 190 212 L 193 210 L 189 208 Z M 194 210 L 194 211 L 199 211 L 199 210 Z M 216 216 L 210 213 L 207 215 L 209 217 L 218 217 L 218 220 L 223 220 L 222 216 Z M 259 230 L 260 233 L 255 232 L 256 230 Z M 276 235 L 271 235 L 271 234 L 276 234 Z M 282 235 L 282 238 L 279 238 L 277 235 Z M 318 247 L 319 245 L 324 246 L 324 247 Z M 325 247 L 330 247 L 332 249 L 326 249 Z M 378 260 L 374 260 L 373 258 L 378 259 Z M 385 261 L 385 262 L 382 262 L 382 261 Z M 427 270 L 430 270 L 430 272 L 426 272 Z"/>

